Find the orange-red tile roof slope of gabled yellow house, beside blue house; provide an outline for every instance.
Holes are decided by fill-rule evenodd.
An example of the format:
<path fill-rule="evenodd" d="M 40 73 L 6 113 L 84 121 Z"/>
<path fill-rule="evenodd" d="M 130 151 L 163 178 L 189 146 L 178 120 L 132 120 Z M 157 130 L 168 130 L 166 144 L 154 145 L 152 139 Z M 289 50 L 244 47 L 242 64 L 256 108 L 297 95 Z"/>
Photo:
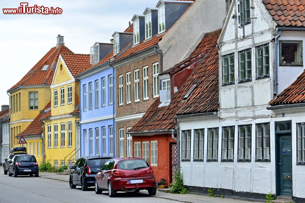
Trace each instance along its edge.
<path fill-rule="evenodd" d="M 69 71 L 75 77 L 90 65 L 90 54 L 60 54 Z"/>

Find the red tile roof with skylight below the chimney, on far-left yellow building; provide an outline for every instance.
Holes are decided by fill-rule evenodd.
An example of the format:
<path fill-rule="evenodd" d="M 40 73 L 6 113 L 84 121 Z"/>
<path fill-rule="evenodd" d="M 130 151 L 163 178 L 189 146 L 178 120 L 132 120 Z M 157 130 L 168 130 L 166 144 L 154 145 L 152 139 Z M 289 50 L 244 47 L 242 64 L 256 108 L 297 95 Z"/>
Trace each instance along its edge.
<path fill-rule="evenodd" d="M 48 51 L 48 53 L 45 54 L 44 57 L 42 57 L 40 61 L 38 61 L 38 63 L 30 69 L 29 72 L 9 90 L 12 90 L 18 86 L 26 85 L 50 85 L 53 79 L 55 66 L 59 58 L 59 53 L 73 52 L 64 45 L 60 45 L 57 48 L 51 48 L 50 51 Z M 46 71 L 41 71 L 45 65 L 50 66 Z"/>

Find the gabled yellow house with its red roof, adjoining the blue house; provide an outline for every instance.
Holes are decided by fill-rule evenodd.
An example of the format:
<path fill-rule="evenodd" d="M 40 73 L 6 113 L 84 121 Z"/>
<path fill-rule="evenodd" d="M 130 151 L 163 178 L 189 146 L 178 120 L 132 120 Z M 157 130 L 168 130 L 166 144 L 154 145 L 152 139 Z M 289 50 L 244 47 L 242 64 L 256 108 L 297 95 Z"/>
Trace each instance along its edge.
<path fill-rule="evenodd" d="M 45 128 L 45 161 L 70 165 L 78 158 L 79 81 L 76 75 L 90 65 L 90 54 L 60 54 L 51 83 L 51 114 Z"/>

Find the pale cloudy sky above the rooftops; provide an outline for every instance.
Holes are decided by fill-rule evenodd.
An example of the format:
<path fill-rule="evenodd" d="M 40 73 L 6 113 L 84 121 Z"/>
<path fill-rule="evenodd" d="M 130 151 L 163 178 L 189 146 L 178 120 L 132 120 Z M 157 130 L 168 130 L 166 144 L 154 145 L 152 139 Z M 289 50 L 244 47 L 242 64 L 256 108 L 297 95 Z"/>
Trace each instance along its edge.
<path fill-rule="evenodd" d="M 89 54 L 96 41 L 110 42 L 124 31 L 134 14 L 155 7 L 158 0 L 21 1 L 29 6 L 59 7 L 61 15 L 3 15 L 20 1 L 0 0 L 0 105 L 9 104 L 6 91 L 15 85 L 49 50 L 58 34 L 74 53 Z"/>

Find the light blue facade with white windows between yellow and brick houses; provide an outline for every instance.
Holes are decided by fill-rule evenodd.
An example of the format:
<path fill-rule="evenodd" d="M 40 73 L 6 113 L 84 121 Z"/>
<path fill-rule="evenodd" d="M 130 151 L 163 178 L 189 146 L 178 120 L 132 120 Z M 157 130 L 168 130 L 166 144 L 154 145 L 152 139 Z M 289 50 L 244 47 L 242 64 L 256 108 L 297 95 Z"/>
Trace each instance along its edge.
<path fill-rule="evenodd" d="M 111 89 L 110 76 L 112 76 L 113 97 L 111 97 L 111 91 L 109 92 Z M 115 72 L 113 75 L 113 68 L 107 63 L 82 73 L 79 75 L 79 79 L 81 156 L 106 155 L 115 157 L 116 126 L 113 119 L 113 115 L 115 115 L 113 105 L 115 107 L 116 101 Z M 113 143 L 113 147 L 111 147 L 110 142 Z"/>

